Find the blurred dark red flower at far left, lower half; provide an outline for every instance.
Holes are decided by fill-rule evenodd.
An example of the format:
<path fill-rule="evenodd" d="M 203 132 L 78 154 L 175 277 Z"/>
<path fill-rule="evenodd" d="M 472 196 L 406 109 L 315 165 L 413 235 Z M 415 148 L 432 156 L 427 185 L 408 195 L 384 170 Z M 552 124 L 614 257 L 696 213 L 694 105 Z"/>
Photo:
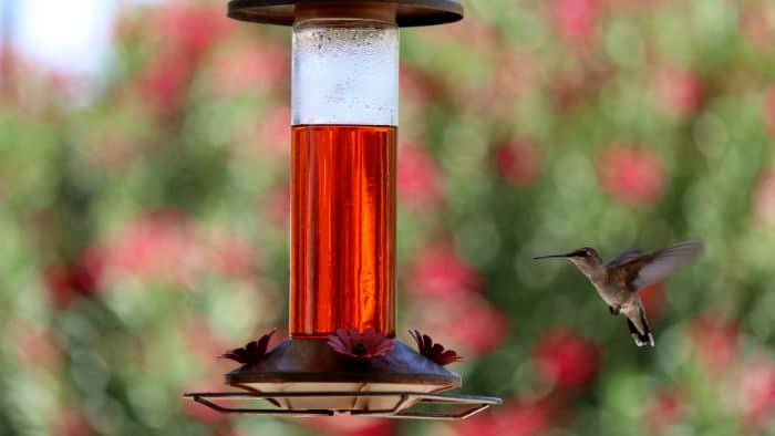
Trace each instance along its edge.
<path fill-rule="evenodd" d="M 49 266 L 44 280 L 51 302 L 58 309 L 66 309 L 78 298 L 92 297 L 100 291 L 103 277 L 103 251 L 87 249 L 81 259 Z"/>

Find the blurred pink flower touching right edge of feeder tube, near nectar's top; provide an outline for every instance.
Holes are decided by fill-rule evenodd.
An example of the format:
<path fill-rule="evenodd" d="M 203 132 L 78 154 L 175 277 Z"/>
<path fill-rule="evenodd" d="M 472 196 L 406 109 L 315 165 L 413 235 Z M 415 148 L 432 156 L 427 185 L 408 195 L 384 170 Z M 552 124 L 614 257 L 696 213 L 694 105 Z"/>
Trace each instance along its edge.
<path fill-rule="evenodd" d="M 399 199 L 417 209 L 428 209 L 441 204 L 442 177 L 430 153 L 420 146 L 401 146 L 397 166 Z"/>

